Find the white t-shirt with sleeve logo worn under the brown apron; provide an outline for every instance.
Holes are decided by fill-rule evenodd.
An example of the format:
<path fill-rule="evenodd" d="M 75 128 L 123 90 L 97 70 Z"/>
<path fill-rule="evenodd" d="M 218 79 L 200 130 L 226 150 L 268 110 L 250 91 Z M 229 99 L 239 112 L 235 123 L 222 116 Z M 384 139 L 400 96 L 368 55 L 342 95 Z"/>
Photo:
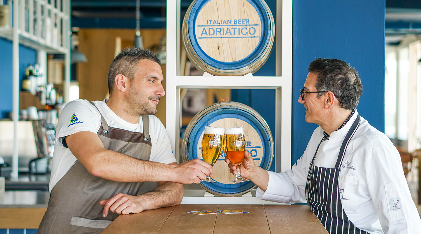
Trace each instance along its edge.
<path fill-rule="evenodd" d="M 93 103 L 104 116 L 109 127 L 143 133 L 142 117 L 139 118 L 137 124 L 129 123 L 112 112 L 106 104 L 107 101 L 108 99 L 105 99 L 104 101 L 93 101 Z M 87 100 L 79 99 L 69 102 L 61 112 L 56 131 L 50 191 L 76 162 L 76 157 L 72 152 L 63 146 L 63 138 L 80 131 L 97 133 L 101 127 L 101 115 L 95 106 Z M 176 162 L 167 131 L 155 115 L 149 115 L 149 136 L 152 141 L 149 161 L 165 164 Z"/>

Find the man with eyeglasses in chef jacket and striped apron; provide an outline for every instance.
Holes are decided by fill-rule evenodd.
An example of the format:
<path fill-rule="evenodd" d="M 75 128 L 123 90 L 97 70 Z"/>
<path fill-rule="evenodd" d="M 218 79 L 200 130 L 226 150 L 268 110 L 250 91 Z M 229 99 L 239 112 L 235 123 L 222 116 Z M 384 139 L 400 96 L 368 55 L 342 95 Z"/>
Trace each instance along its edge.
<path fill-rule="evenodd" d="M 256 197 L 307 202 L 330 234 L 421 233 L 400 154 L 357 112 L 358 72 L 344 61 L 322 58 L 308 71 L 298 102 L 306 108 L 305 120 L 320 127 L 285 173 L 266 171 L 245 153 L 240 170 L 258 186 Z"/>

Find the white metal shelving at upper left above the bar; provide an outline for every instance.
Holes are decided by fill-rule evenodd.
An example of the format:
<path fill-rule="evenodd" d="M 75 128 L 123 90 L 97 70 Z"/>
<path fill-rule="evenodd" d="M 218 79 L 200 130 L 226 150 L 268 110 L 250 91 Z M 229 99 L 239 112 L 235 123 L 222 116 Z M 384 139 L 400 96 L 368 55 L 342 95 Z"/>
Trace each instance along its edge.
<path fill-rule="evenodd" d="M 3 0 L 1 0 L 3 1 Z M 47 71 L 47 53 L 65 54 L 64 101 L 70 87 L 70 1 L 8 0 L 11 27 L 0 37 L 13 42 L 13 159 L 12 177 L 18 177 L 19 44 L 37 51 L 37 63 Z M 46 76 L 43 77 L 46 81 Z"/>

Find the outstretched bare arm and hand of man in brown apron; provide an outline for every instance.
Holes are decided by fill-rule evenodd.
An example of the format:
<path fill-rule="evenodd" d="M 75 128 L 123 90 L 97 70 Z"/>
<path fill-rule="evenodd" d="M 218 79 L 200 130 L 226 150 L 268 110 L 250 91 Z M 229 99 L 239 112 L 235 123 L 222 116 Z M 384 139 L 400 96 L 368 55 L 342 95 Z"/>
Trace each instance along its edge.
<path fill-rule="evenodd" d="M 198 159 L 177 165 L 139 160 L 104 148 L 101 139 L 92 132 L 82 131 L 66 137 L 76 159 L 93 176 L 110 181 L 173 181 L 200 183 L 212 172 L 212 166 Z"/>

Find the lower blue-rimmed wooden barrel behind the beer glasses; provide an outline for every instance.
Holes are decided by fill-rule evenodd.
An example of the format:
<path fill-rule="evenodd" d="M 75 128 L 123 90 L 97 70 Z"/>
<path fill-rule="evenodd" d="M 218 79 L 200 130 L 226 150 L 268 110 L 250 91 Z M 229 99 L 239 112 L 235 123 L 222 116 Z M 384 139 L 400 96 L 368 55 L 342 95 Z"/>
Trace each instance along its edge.
<path fill-rule="evenodd" d="M 237 102 L 220 102 L 208 106 L 187 125 L 182 141 L 183 160 L 202 160 L 201 142 L 205 126 L 219 128 L 243 127 L 246 149 L 250 152 L 256 165 L 268 170 L 274 155 L 272 133 L 264 119 L 251 107 Z M 255 185 L 251 181 L 229 183 L 234 175 L 229 173 L 228 164 L 224 162 L 225 154 L 222 153 L 213 165 L 212 178 L 217 183 L 201 182 L 199 185 L 212 194 L 234 196 L 243 194 Z"/>

